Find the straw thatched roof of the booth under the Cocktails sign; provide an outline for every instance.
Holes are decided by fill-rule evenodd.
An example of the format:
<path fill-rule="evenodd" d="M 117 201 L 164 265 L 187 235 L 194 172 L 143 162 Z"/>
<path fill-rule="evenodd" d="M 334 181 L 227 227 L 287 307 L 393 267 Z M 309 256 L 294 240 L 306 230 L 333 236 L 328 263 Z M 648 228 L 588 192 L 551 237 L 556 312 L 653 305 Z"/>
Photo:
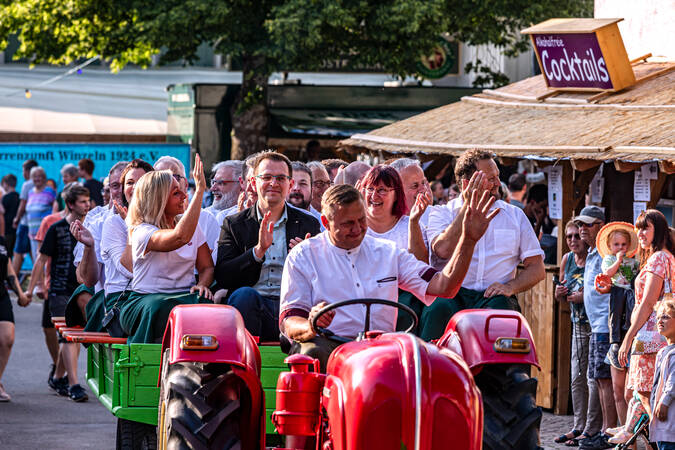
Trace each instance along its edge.
<path fill-rule="evenodd" d="M 618 93 L 549 93 L 536 76 L 340 142 L 349 152 L 675 163 L 675 63 L 634 66 Z M 651 75 L 650 75 L 651 74 Z"/>

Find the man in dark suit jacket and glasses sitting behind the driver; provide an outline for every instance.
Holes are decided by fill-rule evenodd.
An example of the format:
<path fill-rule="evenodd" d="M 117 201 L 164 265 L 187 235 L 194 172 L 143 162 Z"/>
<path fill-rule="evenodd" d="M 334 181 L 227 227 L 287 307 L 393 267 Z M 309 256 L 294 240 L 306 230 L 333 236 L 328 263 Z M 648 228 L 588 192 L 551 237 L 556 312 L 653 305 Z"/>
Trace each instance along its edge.
<path fill-rule="evenodd" d="M 279 339 L 281 274 L 289 248 L 320 231 L 316 218 L 286 204 L 291 174 L 284 155 L 262 153 L 250 179 L 258 201 L 225 218 L 218 243 L 216 281 L 231 292 L 228 305 L 261 341 Z"/>

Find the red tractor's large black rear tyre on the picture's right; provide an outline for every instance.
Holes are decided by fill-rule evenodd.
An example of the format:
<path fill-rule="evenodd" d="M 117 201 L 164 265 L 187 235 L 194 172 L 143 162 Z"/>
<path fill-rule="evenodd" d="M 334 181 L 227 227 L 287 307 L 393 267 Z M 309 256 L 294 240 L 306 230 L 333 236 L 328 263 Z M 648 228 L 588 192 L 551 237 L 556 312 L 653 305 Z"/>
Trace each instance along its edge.
<path fill-rule="evenodd" d="M 541 408 L 529 366 L 488 365 L 475 377 L 483 396 L 483 448 L 539 449 Z"/>

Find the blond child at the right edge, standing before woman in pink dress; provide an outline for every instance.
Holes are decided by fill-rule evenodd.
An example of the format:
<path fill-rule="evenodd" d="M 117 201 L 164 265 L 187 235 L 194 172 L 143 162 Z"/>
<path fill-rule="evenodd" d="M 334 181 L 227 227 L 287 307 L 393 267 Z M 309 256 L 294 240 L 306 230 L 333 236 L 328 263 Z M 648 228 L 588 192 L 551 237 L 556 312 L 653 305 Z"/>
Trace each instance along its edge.
<path fill-rule="evenodd" d="M 671 297 L 657 304 L 656 328 L 668 345 L 656 355 L 654 388 L 649 403 L 654 412 L 649 425 L 649 439 L 659 450 L 675 450 L 675 300 Z"/>

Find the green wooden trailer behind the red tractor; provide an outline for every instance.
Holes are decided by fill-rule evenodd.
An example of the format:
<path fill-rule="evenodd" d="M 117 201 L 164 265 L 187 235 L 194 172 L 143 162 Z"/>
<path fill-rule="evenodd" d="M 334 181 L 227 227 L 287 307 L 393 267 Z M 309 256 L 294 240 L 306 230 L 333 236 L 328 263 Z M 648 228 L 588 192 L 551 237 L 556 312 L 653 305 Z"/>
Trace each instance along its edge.
<path fill-rule="evenodd" d="M 118 418 L 117 448 L 154 448 L 159 403 L 161 344 L 90 344 L 87 384 Z M 260 345 L 261 383 L 265 392 L 266 433 L 278 440 L 271 416 L 279 373 L 288 370 L 279 345 Z M 139 442 L 142 443 L 139 444 Z"/>

